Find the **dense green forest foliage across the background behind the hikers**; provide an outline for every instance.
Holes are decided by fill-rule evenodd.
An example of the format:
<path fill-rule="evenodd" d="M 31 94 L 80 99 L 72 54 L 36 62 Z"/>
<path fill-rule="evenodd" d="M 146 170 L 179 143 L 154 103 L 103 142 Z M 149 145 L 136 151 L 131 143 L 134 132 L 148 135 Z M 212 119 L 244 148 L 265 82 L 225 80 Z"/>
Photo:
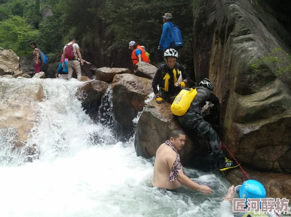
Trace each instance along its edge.
<path fill-rule="evenodd" d="M 184 58 L 180 60 L 192 65 L 192 14 L 196 3 L 195 0 L 0 0 L 0 45 L 21 56 L 29 53 L 29 42 L 35 41 L 45 53 L 56 53 L 74 35 L 85 53 L 102 50 L 108 57 L 128 52 L 128 42 L 134 40 L 146 46 L 153 61 L 155 56 L 161 56 L 157 55 L 163 25 L 161 15 L 170 12 L 188 46 L 183 48 Z M 40 12 L 46 5 L 52 7 L 53 16 L 41 22 Z M 12 31 L 7 34 L 8 25 Z M 21 31 L 17 32 L 18 29 Z"/>

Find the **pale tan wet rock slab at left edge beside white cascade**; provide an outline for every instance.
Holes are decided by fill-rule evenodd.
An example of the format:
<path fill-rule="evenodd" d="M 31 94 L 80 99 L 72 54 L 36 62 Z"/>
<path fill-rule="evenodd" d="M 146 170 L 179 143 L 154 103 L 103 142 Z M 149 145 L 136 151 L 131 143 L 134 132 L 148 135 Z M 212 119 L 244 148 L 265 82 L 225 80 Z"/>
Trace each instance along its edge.
<path fill-rule="evenodd" d="M 22 147 L 29 139 L 30 130 L 39 123 L 38 103 L 43 98 L 41 83 L 0 80 L 0 129 L 13 138 L 11 144 Z"/>

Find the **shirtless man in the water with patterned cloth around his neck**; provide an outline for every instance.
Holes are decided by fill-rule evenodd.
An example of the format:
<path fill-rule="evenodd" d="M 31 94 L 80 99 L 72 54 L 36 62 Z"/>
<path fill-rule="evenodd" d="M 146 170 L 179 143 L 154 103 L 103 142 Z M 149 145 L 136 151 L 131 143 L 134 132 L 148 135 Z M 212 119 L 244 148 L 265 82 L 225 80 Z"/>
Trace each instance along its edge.
<path fill-rule="evenodd" d="M 164 189 L 176 189 L 180 185 L 201 191 L 205 194 L 212 193 L 206 185 L 199 185 L 183 173 L 178 151 L 185 145 L 186 135 L 183 130 L 175 129 L 170 132 L 170 139 L 160 145 L 156 152 L 152 185 Z"/>

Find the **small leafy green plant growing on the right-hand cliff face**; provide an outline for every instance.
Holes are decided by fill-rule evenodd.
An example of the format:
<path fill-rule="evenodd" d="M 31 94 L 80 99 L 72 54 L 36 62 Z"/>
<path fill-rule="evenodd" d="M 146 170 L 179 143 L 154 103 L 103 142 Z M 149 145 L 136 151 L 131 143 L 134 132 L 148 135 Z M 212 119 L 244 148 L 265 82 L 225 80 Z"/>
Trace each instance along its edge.
<path fill-rule="evenodd" d="M 282 81 L 291 84 L 291 56 L 281 47 L 275 48 L 267 56 L 257 59 L 255 63 L 251 64 L 253 72 L 261 72 L 263 64 L 272 65 L 274 74 Z"/>

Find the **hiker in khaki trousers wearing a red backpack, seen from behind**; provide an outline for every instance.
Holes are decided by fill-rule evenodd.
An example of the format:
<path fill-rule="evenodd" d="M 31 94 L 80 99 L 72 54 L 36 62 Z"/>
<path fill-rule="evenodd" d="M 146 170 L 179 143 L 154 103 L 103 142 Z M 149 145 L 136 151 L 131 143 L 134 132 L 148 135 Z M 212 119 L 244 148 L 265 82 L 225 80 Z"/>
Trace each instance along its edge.
<path fill-rule="evenodd" d="M 81 81 L 81 65 L 84 65 L 82 60 L 82 56 L 80 53 L 80 47 L 76 43 L 75 37 L 70 36 L 70 43 L 66 44 L 63 51 L 63 64 L 62 67 L 65 68 L 65 59 L 68 59 L 68 80 L 72 78 L 73 70 L 77 73 L 78 81 Z"/>

